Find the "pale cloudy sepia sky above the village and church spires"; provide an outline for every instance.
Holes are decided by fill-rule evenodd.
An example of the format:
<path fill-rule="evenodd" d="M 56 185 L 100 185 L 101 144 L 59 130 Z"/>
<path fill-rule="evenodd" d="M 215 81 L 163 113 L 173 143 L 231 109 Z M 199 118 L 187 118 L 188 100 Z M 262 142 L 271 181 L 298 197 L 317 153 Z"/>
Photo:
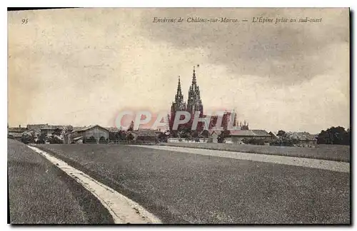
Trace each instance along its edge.
<path fill-rule="evenodd" d="M 239 22 L 187 21 L 198 17 Z M 289 22 L 306 17 L 321 22 Z M 8 122 L 114 126 L 124 110 L 169 113 L 178 76 L 187 101 L 199 64 L 205 112 L 235 109 L 267 131 L 348 128 L 349 49 L 348 9 L 10 11 Z"/>

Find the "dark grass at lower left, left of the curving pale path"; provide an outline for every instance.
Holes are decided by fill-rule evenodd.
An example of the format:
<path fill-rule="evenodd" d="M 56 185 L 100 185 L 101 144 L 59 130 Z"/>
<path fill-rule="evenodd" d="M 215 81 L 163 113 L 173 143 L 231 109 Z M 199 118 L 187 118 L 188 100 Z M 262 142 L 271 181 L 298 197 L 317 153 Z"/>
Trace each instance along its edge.
<path fill-rule="evenodd" d="M 114 223 L 99 200 L 76 180 L 24 143 L 7 142 L 11 224 Z"/>

